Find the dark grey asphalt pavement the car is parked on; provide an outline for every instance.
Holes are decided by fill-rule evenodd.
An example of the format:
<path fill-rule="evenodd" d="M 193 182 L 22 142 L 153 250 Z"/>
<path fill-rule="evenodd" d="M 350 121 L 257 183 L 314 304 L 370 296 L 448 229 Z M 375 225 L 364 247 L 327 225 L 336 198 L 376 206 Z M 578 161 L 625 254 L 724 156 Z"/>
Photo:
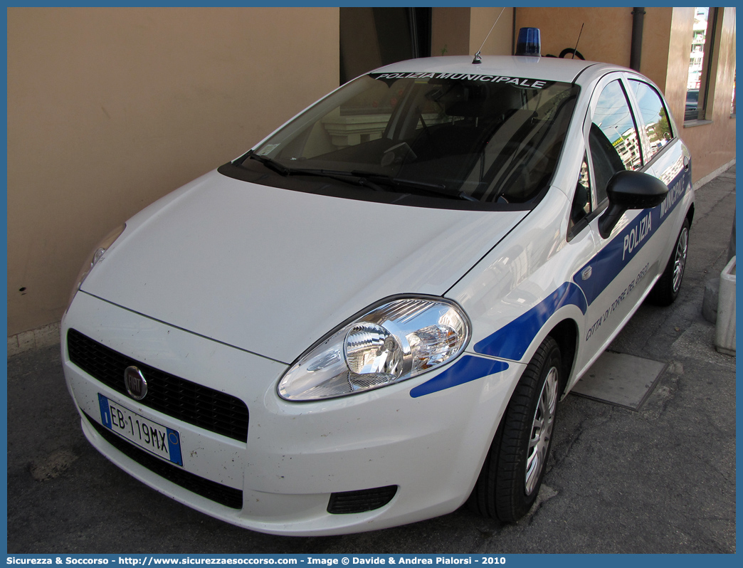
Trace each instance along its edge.
<path fill-rule="evenodd" d="M 539 500 L 516 524 L 466 507 L 376 532 L 262 535 L 147 488 L 85 440 L 59 345 L 7 367 L 7 552 L 736 552 L 736 358 L 716 352 L 704 286 L 727 263 L 733 166 L 697 191 L 684 284 L 644 305 L 610 351 L 661 361 L 639 410 L 570 395 L 559 405 Z"/>

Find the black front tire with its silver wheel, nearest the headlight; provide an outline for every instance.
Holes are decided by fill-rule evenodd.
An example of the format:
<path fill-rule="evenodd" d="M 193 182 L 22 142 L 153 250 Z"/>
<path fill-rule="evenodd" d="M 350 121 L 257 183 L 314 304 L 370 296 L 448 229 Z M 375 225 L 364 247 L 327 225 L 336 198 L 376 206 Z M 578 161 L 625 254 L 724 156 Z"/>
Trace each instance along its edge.
<path fill-rule="evenodd" d="M 557 342 L 546 338 L 508 402 L 470 495 L 471 509 L 486 517 L 513 522 L 533 506 L 552 445 L 562 384 L 561 361 Z"/>

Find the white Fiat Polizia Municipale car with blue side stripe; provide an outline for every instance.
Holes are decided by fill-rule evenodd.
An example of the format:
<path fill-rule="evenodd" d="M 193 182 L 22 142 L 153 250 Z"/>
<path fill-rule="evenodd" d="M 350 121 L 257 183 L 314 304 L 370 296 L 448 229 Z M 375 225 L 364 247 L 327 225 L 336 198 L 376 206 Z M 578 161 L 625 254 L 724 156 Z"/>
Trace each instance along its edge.
<path fill-rule="evenodd" d="M 559 399 L 646 297 L 678 294 L 693 198 L 634 71 L 389 65 L 97 248 L 62 323 L 82 429 L 257 531 L 380 529 L 468 498 L 516 520 Z"/>

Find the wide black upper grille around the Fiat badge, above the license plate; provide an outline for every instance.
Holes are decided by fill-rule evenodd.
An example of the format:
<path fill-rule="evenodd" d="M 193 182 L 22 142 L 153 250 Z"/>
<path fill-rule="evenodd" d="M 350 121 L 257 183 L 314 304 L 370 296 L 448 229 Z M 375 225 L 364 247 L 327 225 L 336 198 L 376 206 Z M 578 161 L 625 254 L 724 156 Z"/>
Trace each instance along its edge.
<path fill-rule="evenodd" d="M 139 367 L 147 380 L 147 396 L 137 404 L 188 424 L 247 442 L 247 406 L 239 398 L 140 363 L 88 338 L 67 332 L 70 361 L 107 387 L 126 395 L 124 369 Z"/>

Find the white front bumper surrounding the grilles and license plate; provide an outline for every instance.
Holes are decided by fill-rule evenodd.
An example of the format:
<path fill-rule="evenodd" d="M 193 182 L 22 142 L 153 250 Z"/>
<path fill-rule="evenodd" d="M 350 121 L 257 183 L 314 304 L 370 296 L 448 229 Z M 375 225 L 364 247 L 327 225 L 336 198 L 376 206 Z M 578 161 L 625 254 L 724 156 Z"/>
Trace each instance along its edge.
<path fill-rule="evenodd" d="M 247 405 L 247 442 L 153 410 L 106 386 L 70 361 L 69 329 L 115 352 L 186 381 L 235 396 Z M 291 403 L 276 394 L 287 365 L 150 320 L 79 293 L 62 321 L 62 361 L 88 440 L 143 483 L 212 517 L 260 532 L 334 535 L 382 529 L 455 510 L 477 479 L 493 433 L 523 370 L 507 369 L 425 396 L 411 390 L 435 373 L 328 401 Z M 446 370 L 446 369 L 442 369 Z M 121 376 L 123 381 L 123 371 Z M 98 395 L 181 436 L 182 471 L 151 456 L 132 459 L 129 442 L 101 426 Z M 129 454 L 129 455 L 128 455 Z M 152 468 L 152 459 L 160 467 Z M 143 463 L 145 465 L 143 465 Z M 153 471 L 153 469 L 155 471 Z M 169 470 L 168 470 L 169 471 Z M 226 506 L 180 479 L 205 480 L 237 495 Z M 190 483 L 190 482 L 189 482 Z M 331 496 L 395 486 L 378 509 L 331 514 Z M 241 503 L 240 503 L 241 500 Z"/>

